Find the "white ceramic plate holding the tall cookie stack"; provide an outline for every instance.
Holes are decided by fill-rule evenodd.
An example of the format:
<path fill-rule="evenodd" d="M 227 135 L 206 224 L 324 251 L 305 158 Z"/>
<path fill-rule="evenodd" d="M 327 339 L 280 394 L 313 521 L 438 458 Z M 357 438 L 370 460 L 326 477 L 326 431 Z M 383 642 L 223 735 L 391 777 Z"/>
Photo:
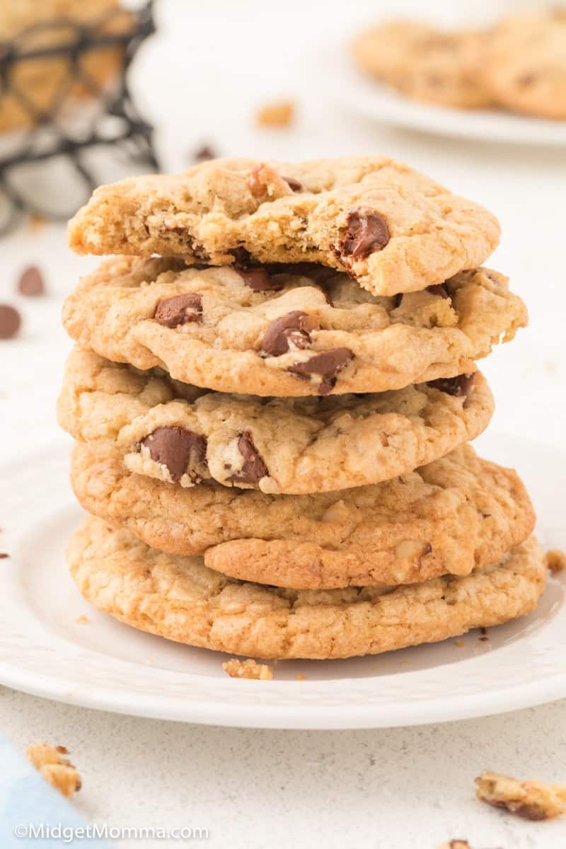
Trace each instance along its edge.
<path fill-rule="evenodd" d="M 566 548 L 566 457 L 509 437 L 482 453 L 517 464 L 541 516 L 539 536 Z M 565 579 L 530 616 L 456 640 L 348 661 L 282 661 L 272 682 L 227 678 L 225 655 L 139 633 L 81 598 L 64 565 L 81 520 L 66 447 L 3 469 L 0 482 L 0 683 L 144 717 L 257 728 L 377 728 L 512 711 L 566 696 Z M 88 622 L 76 620 L 87 616 Z M 299 674 L 305 680 L 297 680 Z"/>

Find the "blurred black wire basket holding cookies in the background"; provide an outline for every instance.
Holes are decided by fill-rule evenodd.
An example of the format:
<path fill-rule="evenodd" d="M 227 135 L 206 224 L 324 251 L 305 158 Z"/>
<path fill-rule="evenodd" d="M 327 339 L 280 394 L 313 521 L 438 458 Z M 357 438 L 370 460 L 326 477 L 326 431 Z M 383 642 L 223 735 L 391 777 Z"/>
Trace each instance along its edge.
<path fill-rule="evenodd" d="M 136 11 L 115 9 L 88 24 L 34 25 L 0 42 L 0 234 L 26 214 L 53 220 L 73 215 L 104 182 L 110 150 L 115 160 L 159 171 L 154 128 L 128 85 L 132 60 L 154 31 L 149 0 Z M 21 84 L 25 74 L 27 87 Z M 30 91 L 31 74 L 44 90 L 53 89 L 39 102 Z"/>

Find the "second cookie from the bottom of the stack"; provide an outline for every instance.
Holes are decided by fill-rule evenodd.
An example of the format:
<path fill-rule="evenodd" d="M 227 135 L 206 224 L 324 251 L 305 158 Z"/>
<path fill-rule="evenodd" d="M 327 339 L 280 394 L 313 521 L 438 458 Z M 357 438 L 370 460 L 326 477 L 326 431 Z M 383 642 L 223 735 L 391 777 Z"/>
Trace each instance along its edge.
<path fill-rule="evenodd" d="M 202 483 L 188 489 L 134 475 L 115 453 L 78 442 L 71 483 L 90 513 L 170 554 L 244 580 L 341 588 L 467 575 L 533 531 L 518 475 L 465 445 L 373 486 L 266 495 Z"/>

